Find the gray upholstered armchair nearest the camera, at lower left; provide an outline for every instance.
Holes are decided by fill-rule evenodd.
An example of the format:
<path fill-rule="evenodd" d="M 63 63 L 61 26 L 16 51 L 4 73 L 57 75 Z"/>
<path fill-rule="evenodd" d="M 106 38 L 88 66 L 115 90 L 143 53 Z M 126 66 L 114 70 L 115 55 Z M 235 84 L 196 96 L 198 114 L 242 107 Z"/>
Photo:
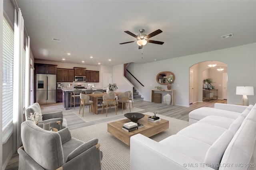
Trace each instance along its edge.
<path fill-rule="evenodd" d="M 46 131 L 32 121 L 21 124 L 23 146 L 18 149 L 19 170 L 100 170 L 98 139 L 84 143 L 68 128 Z"/>

